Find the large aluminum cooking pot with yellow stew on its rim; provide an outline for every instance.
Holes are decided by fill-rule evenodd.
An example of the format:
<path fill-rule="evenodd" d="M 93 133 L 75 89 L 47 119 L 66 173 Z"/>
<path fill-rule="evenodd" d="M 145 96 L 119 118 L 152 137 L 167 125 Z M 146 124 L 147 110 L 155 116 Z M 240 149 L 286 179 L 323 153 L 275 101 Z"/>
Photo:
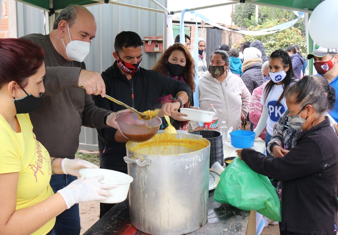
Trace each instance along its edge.
<path fill-rule="evenodd" d="M 210 142 L 188 134 L 157 134 L 127 142 L 131 224 L 152 234 L 181 235 L 208 218 Z"/>

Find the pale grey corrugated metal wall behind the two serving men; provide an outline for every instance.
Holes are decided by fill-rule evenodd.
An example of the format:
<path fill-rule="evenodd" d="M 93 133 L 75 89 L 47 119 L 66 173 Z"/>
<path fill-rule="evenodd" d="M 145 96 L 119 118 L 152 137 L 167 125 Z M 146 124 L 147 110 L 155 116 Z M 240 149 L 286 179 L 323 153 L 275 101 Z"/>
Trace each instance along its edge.
<path fill-rule="evenodd" d="M 167 0 L 158 2 L 167 6 Z M 122 3 L 160 9 L 149 0 L 126 0 Z M 88 9 L 95 16 L 97 23 L 96 38 L 92 42 L 89 55 L 84 60 L 88 70 L 101 73 L 114 63 L 112 55 L 114 39 L 121 31 L 135 31 L 142 39 L 145 36 L 164 36 L 164 45 L 167 45 L 167 24 L 163 13 L 113 4 L 90 6 Z M 18 3 L 17 16 L 18 37 L 29 33 L 44 33 L 44 15 L 39 9 Z M 144 52 L 141 67 L 150 69 L 160 55 L 161 53 Z M 79 148 L 97 149 L 95 129 L 82 127 L 79 140 Z"/>

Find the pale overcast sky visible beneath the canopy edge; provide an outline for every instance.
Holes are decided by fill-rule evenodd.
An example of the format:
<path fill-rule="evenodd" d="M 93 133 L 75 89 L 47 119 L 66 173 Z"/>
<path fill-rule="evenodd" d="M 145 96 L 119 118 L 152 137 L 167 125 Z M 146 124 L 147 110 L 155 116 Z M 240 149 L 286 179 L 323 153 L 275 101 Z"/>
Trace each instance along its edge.
<path fill-rule="evenodd" d="M 194 8 L 194 7 L 200 7 L 200 6 L 206 6 L 206 5 L 214 5 L 219 3 L 225 3 L 230 1 L 224 1 L 224 0 L 168 0 L 168 9 L 170 11 L 176 11 L 176 10 L 182 10 L 186 8 Z M 226 25 L 231 25 L 231 11 L 232 11 L 232 5 L 226 5 L 226 6 L 219 6 L 219 7 L 213 7 L 208 9 L 202 9 L 198 10 L 198 12 L 217 23 L 222 23 Z M 180 13 L 175 14 L 179 18 L 181 16 Z M 185 20 L 191 20 L 191 18 L 195 19 L 195 16 L 190 13 L 185 13 L 184 19 Z"/>

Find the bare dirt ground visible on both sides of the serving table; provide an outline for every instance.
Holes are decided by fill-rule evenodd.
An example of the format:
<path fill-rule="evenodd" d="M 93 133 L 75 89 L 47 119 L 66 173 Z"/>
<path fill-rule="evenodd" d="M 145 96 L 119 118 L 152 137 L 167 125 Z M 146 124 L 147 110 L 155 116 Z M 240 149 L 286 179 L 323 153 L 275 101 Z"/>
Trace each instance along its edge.
<path fill-rule="evenodd" d="M 80 219 L 81 219 L 81 232 L 82 235 L 86 232 L 95 222 L 99 219 L 100 203 L 88 202 L 80 203 Z M 261 235 L 280 235 L 278 225 L 268 225 L 263 229 Z"/>

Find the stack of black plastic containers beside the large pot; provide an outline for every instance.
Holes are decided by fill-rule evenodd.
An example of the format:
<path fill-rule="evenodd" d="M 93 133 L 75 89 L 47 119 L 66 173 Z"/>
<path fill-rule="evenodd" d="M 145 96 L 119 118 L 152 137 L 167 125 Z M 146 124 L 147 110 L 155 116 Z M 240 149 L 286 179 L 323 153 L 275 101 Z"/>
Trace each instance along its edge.
<path fill-rule="evenodd" d="M 196 131 L 192 134 L 200 135 L 210 141 L 210 168 L 217 161 L 224 165 L 222 133 L 218 131 Z"/>

